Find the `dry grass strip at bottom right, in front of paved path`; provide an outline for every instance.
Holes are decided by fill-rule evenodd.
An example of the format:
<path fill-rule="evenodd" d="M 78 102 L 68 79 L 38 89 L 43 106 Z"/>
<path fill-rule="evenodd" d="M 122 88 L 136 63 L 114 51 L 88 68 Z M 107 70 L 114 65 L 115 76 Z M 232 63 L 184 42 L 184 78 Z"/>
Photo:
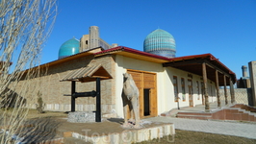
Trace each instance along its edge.
<path fill-rule="evenodd" d="M 165 136 L 159 139 L 153 139 L 151 141 L 144 141 L 136 144 L 254 144 L 256 139 L 243 138 L 238 136 L 206 133 L 206 132 L 191 132 L 191 131 L 181 131 L 175 130 L 176 134 L 174 138 L 171 135 Z"/>

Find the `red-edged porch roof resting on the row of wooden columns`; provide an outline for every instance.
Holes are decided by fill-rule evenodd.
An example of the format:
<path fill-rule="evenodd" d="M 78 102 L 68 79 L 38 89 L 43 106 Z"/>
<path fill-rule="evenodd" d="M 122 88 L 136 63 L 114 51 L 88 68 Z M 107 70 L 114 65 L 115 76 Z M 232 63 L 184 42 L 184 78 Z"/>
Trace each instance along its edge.
<path fill-rule="evenodd" d="M 170 59 L 169 62 L 163 63 L 163 66 L 171 66 L 191 72 L 192 74 L 203 76 L 203 63 L 206 64 L 207 79 L 216 82 L 216 71 L 218 71 L 218 78 L 224 78 L 225 76 L 226 78 L 229 78 L 233 84 L 236 83 L 236 74 L 211 54 L 173 58 Z M 225 79 L 218 79 L 219 86 L 224 86 L 224 81 Z M 230 85 L 230 81 L 226 81 L 226 84 Z"/>

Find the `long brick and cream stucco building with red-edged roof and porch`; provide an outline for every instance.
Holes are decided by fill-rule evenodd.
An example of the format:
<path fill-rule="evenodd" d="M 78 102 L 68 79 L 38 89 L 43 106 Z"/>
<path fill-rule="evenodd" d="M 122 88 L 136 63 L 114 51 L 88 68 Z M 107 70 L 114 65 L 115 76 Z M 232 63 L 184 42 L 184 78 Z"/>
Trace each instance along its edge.
<path fill-rule="evenodd" d="M 83 42 L 80 40 L 81 45 Z M 30 83 L 27 94 L 35 90 L 41 93 L 45 110 L 70 111 L 70 96 L 64 94 L 71 94 L 71 83 L 62 82 L 63 78 L 80 68 L 101 65 L 112 76 L 112 79 L 101 82 L 102 113 L 123 117 L 123 73 L 128 72 L 140 90 L 140 116 L 145 118 L 160 115 L 178 105 L 194 107 L 203 104 L 207 109 L 209 103 L 220 97 L 218 86 L 232 86 L 236 82 L 236 75 L 211 54 L 166 58 L 123 46 L 109 49 L 81 47 L 83 52 L 39 65 L 40 75 L 20 81 L 15 92 L 19 93 L 22 85 Z M 95 82 L 76 85 L 77 92 L 95 88 Z M 26 95 L 22 96 L 26 98 Z M 27 99 L 26 103 L 35 108 L 37 99 Z M 95 98 L 77 98 L 76 110 L 94 111 Z"/>

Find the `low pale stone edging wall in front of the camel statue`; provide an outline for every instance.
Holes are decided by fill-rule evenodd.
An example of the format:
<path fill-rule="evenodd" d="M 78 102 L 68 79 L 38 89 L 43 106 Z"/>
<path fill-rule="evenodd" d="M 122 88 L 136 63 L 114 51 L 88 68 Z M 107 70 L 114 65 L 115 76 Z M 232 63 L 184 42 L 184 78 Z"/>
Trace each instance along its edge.
<path fill-rule="evenodd" d="M 175 129 L 173 124 L 162 124 L 161 126 L 153 126 L 143 129 L 125 130 L 123 132 L 110 132 L 100 134 L 94 132 L 94 135 L 80 134 L 72 132 L 72 137 L 82 139 L 86 142 L 93 144 L 113 144 L 113 143 L 125 143 L 132 144 L 136 142 L 142 142 L 152 140 L 154 138 L 162 138 L 166 135 L 172 135 L 173 137 L 167 139 L 169 143 L 174 142 Z"/>

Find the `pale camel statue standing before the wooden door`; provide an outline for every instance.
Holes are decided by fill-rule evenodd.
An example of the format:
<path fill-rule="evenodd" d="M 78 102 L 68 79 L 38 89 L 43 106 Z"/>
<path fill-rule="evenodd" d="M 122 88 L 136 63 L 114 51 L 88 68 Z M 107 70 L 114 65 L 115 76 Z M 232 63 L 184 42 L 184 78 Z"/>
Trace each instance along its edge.
<path fill-rule="evenodd" d="M 124 115 L 124 128 L 140 129 L 140 109 L 139 109 L 139 89 L 136 86 L 131 74 L 123 74 L 123 89 L 122 89 L 122 102 L 123 102 L 123 115 Z M 135 125 L 130 125 L 127 118 L 127 108 L 130 108 L 131 120 L 135 116 Z"/>

